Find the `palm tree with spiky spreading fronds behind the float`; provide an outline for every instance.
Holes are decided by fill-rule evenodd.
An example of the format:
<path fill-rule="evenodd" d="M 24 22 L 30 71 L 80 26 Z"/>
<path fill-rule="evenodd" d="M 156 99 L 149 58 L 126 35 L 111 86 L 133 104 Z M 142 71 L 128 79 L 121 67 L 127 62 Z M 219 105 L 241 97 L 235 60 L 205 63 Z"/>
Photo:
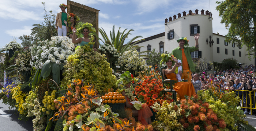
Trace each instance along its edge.
<path fill-rule="evenodd" d="M 134 31 L 134 30 L 130 29 L 127 33 L 125 33 L 127 29 L 125 29 L 123 32 L 121 32 L 120 29 L 121 27 L 119 27 L 117 34 L 115 34 L 115 25 L 113 25 L 112 32 L 110 31 L 110 39 L 109 39 L 104 29 L 100 28 L 99 32 L 101 33 L 101 36 L 103 37 L 104 41 L 102 39 L 99 39 L 99 40 L 101 40 L 103 43 L 105 43 L 106 41 L 109 41 L 108 43 L 114 45 L 114 47 L 120 53 L 123 53 L 128 50 L 135 51 L 136 49 L 143 47 L 135 44 L 144 39 L 133 42 L 138 38 L 143 38 L 142 36 L 135 36 L 131 40 L 129 40 L 126 44 L 124 44 L 125 39 L 128 38 L 128 35 L 132 35 L 131 31 Z M 140 53 L 145 53 L 145 52 L 150 52 L 150 51 L 143 51 Z M 146 56 L 146 55 L 141 55 L 141 56 Z"/>

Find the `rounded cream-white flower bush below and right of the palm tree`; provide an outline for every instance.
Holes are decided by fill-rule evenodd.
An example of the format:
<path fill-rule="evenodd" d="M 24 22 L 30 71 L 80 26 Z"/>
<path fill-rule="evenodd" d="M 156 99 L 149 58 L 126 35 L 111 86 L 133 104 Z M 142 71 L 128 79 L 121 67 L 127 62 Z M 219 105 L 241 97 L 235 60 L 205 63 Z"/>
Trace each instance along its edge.
<path fill-rule="evenodd" d="M 121 54 L 120 54 L 121 55 Z M 143 57 L 139 57 L 138 51 L 125 51 L 116 63 L 117 66 L 124 66 L 124 70 L 143 71 L 147 70 L 147 65 Z"/>

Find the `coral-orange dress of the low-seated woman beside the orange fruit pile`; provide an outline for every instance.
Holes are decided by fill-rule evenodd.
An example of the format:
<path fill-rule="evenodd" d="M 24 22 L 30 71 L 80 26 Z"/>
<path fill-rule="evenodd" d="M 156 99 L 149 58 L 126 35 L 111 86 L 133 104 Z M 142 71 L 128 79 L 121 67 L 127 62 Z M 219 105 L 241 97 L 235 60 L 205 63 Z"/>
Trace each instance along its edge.
<path fill-rule="evenodd" d="M 127 98 L 128 103 L 133 106 L 133 104 L 130 102 L 130 99 L 128 97 L 126 97 L 126 98 Z M 150 116 L 153 116 L 153 113 L 146 103 L 142 104 L 141 107 L 142 107 L 142 109 L 138 110 L 138 121 L 144 125 L 148 125 L 148 123 L 146 122 L 145 119 L 148 119 L 148 118 L 150 118 Z"/>

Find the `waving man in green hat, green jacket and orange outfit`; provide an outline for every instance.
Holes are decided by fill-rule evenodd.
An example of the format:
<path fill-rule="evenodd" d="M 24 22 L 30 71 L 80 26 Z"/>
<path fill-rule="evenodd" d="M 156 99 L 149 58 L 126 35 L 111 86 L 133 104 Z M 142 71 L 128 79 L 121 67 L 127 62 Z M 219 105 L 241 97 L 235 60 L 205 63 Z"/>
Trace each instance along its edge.
<path fill-rule="evenodd" d="M 192 79 L 192 72 L 195 71 L 195 67 L 193 65 L 193 61 L 191 58 L 191 52 L 196 51 L 198 47 L 198 39 L 199 34 L 197 33 L 194 38 L 196 40 L 195 47 L 185 47 L 188 45 L 188 39 L 186 37 L 180 37 L 180 39 L 177 40 L 179 43 L 179 46 L 172 51 L 172 55 L 174 57 L 177 57 L 177 59 L 180 59 L 182 61 L 182 76 L 181 79 L 188 80 L 191 82 Z M 175 63 L 173 63 L 175 64 Z"/>

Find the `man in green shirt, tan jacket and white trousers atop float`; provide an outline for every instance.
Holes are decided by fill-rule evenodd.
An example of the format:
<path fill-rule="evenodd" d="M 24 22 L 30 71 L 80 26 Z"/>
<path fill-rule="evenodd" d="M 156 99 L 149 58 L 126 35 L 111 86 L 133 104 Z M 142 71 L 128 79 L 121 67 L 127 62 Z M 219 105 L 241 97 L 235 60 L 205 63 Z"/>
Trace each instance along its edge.
<path fill-rule="evenodd" d="M 67 20 L 69 14 L 66 13 L 65 9 L 68 8 L 65 4 L 60 4 L 61 12 L 56 15 L 56 31 L 58 31 L 59 36 L 67 36 Z"/>

